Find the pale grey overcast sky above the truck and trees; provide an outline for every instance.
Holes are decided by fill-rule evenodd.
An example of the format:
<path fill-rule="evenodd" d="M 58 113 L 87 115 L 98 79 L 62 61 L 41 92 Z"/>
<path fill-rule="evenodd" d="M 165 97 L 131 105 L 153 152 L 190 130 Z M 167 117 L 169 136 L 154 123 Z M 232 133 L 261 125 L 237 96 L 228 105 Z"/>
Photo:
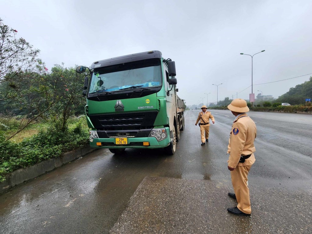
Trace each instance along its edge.
<path fill-rule="evenodd" d="M 176 63 L 187 105 L 253 93 L 278 96 L 312 73 L 312 1 L 1 0 L 16 29 L 51 69 L 159 50 Z M 288 79 L 274 82 L 272 81 Z M 215 84 L 215 85 L 212 85 Z M 249 87 L 250 86 L 250 87 Z M 248 88 L 249 87 L 249 88 Z M 233 96 L 232 96 L 233 95 Z M 307 97 L 311 98 L 311 97 Z"/>

